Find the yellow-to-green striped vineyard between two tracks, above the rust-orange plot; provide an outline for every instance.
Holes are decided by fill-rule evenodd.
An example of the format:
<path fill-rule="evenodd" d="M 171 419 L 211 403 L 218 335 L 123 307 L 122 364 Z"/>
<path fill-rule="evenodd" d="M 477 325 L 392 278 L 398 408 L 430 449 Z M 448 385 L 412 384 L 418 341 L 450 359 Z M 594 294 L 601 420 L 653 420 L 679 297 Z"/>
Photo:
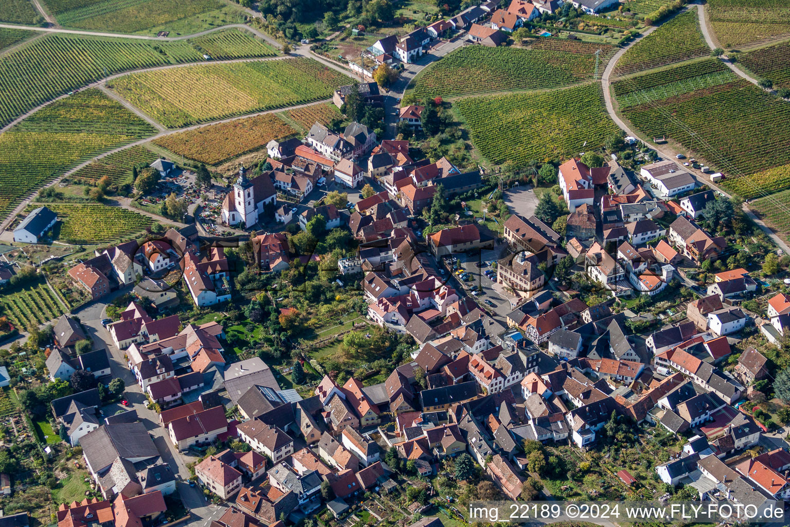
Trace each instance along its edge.
<path fill-rule="evenodd" d="M 327 99 L 350 77 L 310 58 L 185 66 L 131 73 L 111 88 L 176 128 Z"/>

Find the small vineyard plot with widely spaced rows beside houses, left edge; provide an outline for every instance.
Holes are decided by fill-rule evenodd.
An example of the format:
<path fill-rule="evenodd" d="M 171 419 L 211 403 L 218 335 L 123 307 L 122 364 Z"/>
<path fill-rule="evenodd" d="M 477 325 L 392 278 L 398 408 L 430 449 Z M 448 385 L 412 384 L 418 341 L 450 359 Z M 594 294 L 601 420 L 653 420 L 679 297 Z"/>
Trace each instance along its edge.
<path fill-rule="evenodd" d="M 2 314 L 21 330 L 40 326 L 63 314 L 61 303 L 44 280 L 24 284 L 13 292 L 4 292 L 0 295 L 0 305 Z"/>

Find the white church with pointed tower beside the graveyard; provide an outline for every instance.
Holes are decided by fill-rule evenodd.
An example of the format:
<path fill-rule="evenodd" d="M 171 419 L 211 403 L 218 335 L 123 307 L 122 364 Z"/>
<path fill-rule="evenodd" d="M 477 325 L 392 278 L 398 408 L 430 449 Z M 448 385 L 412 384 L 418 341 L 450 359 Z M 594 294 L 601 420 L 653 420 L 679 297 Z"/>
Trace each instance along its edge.
<path fill-rule="evenodd" d="M 258 217 L 265 213 L 267 206 L 274 208 L 277 191 L 269 174 L 261 174 L 247 179 L 244 167 L 239 168 L 239 178 L 233 190 L 222 201 L 221 221 L 223 224 L 251 228 L 258 223 Z"/>

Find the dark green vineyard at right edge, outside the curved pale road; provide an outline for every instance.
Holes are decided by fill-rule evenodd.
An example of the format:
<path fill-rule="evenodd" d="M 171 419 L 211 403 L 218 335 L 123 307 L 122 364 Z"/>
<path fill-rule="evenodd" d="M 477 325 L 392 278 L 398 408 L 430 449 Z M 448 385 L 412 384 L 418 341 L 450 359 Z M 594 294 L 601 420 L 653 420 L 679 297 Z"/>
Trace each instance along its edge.
<path fill-rule="evenodd" d="M 731 174 L 790 164 L 790 104 L 748 81 L 627 107 L 623 115 L 646 136 L 672 137 Z"/>

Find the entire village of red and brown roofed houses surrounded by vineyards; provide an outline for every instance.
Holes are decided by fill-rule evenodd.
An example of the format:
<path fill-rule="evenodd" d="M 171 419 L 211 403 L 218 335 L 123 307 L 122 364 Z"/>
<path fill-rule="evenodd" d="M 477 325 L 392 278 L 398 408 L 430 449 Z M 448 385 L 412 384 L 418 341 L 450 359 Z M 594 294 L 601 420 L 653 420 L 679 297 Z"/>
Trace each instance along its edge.
<path fill-rule="evenodd" d="M 155 219 L 145 235 L 66 253 L 68 214 L 24 209 L 0 253 L 0 527 L 788 499 L 790 254 L 729 176 L 617 126 L 487 168 L 453 143 L 456 100 L 404 97 L 459 48 L 617 4 L 465 3 L 325 53 L 359 77 L 322 101 L 332 119 L 225 173 L 134 166 L 153 183 L 118 208 Z"/>

